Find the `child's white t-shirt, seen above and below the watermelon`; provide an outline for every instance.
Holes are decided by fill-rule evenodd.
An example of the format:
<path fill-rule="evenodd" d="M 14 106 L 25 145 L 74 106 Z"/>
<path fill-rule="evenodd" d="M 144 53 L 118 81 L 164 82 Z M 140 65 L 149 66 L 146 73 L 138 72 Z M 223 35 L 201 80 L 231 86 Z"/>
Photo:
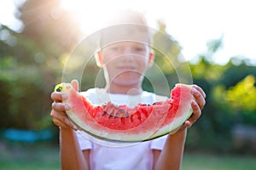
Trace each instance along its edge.
<path fill-rule="evenodd" d="M 132 107 L 138 103 L 149 105 L 166 99 L 165 96 L 148 92 L 139 95 L 108 94 L 102 88 L 91 88 L 81 94 L 94 105 L 111 101 L 117 105 Z M 90 168 L 93 170 L 150 170 L 153 165 L 152 150 L 162 150 L 166 141 L 166 136 L 163 136 L 136 144 L 119 144 L 95 139 L 81 131 L 77 135 L 81 150 L 90 150 Z"/>

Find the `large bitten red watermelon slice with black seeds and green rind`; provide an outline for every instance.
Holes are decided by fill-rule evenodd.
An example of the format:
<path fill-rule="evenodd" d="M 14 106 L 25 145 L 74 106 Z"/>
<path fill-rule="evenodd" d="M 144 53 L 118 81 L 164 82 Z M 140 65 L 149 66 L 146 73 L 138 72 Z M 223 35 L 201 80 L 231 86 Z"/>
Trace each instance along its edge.
<path fill-rule="evenodd" d="M 192 113 L 191 87 L 179 83 L 172 89 L 171 99 L 135 107 L 115 105 L 110 101 L 92 105 L 70 83 L 56 85 L 55 91 L 67 94 L 68 98 L 62 101 L 72 106 L 67 116 L 86 133 L 99 139 L 137 142 L 172 133 L 188 119 Z"/>

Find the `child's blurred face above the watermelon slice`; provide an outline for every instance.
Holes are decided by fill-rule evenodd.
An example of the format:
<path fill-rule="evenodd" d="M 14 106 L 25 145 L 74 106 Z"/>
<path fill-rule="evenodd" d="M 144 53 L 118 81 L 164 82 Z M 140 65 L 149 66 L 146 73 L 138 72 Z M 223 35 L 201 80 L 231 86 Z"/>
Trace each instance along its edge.
<path fill-rule="evenodd" d="M 140 42 L 116 42 L 102 48 L 101 64 L 108 71 L 110 83 L 140 85 L 154 55 Z"/>

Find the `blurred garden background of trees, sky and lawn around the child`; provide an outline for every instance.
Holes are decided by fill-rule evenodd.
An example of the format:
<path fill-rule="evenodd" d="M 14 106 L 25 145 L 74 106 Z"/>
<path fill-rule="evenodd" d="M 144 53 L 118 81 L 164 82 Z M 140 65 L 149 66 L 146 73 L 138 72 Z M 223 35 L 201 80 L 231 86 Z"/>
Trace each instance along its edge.
<path fill-rule="evenodd" d="M 49 95 L 73 48 L 117 7 L 140 10 L 149 26 L 172 38 L 172 44 L 165 43 L 167 53 L 184 55 L 193 82 L 207 94 L 201 118 L 189 128 L 183 169 L 256 167 L 253 1 L 86 2 L 0 0 L 0 169 L 60 168 Z M 160 35 L 154 42 L 161 42 Z M 165 58 L 155 62 L 168 79 L 175 76 Z M 99 72 L 93 59 L 87 66 L 84 89 Z M 143 87 L 151 90 L 149 84 L 145 80 Z"/>

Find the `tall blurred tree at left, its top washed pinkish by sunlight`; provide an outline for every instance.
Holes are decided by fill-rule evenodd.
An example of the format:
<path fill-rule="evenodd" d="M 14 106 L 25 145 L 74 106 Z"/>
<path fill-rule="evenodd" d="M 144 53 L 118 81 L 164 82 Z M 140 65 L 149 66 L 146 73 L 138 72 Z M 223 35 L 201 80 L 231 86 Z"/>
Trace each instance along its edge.
<path fill-rule="evenodd" d="M 20 7 L 24 29 L 17 33 L 0 27 L 7 35 L 0 41 L 0 128 L 41 129 L 52 124 L 49 94 L 55 81 L 61 81 L 62 56 L 79 39 L 77 26 L 60 2 L 27 0 Z"/>

